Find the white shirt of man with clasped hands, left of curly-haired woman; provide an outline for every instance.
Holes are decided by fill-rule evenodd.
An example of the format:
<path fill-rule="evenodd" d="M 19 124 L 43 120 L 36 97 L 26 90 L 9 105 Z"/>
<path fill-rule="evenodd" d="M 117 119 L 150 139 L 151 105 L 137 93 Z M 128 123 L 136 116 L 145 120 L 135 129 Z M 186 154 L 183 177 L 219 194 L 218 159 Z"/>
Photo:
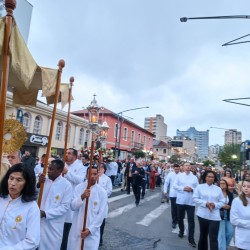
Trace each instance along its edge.
<path fill-rule="evenodd" d="M 180 205 L 195 206 L 195 203 L 192 201 L 193 192 L 184 191 L 184 187 L 191 187 L 194 191 L 198 184 L 198 179 L 193 173 L 179 173 L 173 186 L 177 191 L 176 203 Z"/>

